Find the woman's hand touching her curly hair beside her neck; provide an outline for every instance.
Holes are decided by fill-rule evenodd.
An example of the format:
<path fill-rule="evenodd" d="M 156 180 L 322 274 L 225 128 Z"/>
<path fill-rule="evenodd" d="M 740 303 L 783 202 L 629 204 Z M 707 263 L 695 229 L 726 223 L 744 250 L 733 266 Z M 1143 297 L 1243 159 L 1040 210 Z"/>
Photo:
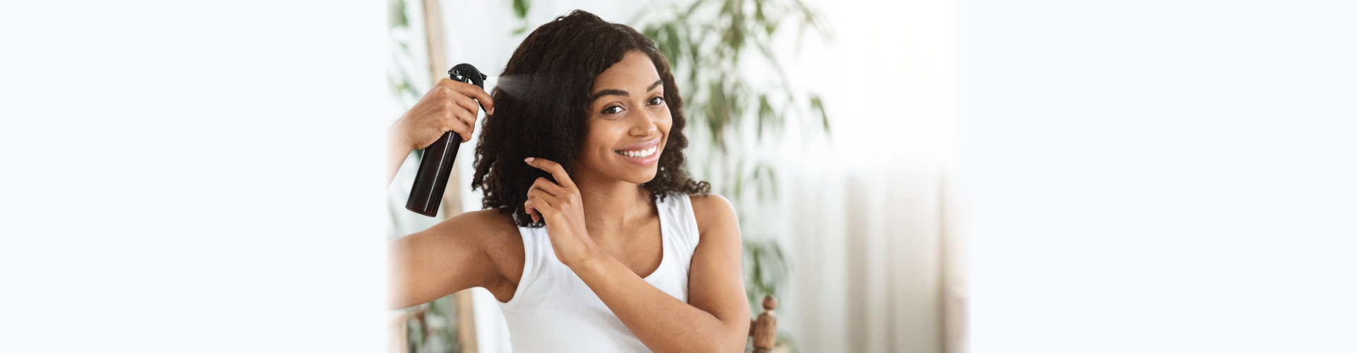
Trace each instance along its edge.
<path fill-rule="evenodd" d="M 547 234 L 551 236 L 551 248 L 556 251 L 560 263 L 574 267 L 603 254 L 598 246 L 589 238 L 585 228 L 585 208 L 581 202 L 579 189 L 566 174 L 566 168 L 555 162 L 529 157 L 528 166 L 551 172 L 558 183 L 547 178 L 537 178 L 528 187 L 528 201 L 522 204 L 528 216 L 533 221 L 546 220 Z"/>

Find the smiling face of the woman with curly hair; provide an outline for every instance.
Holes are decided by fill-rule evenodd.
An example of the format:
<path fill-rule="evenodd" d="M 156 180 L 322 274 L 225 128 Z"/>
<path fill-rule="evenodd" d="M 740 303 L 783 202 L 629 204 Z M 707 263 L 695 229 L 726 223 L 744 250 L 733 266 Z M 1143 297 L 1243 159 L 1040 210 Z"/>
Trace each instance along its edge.
<path fill-rule="evenodd" d="M 628 52 L 600 73 L 578 164 L 630 183 L 654 179 L 673 124 L 664 94 L 660 72 L 642 52 Z"/>

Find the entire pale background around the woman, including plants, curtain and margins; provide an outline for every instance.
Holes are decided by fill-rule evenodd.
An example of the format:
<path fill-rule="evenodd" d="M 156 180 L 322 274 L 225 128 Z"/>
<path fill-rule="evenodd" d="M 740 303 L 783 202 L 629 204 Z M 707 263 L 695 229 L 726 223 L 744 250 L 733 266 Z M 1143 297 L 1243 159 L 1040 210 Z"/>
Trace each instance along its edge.
<path fill-rule="evenodd" d="M 780 352 L 1357 352 L 1333 0 L 5 1 L 0 352 L 508 352 L 384 310 L 383 132 L 575 8 L 702 68 Z"/>

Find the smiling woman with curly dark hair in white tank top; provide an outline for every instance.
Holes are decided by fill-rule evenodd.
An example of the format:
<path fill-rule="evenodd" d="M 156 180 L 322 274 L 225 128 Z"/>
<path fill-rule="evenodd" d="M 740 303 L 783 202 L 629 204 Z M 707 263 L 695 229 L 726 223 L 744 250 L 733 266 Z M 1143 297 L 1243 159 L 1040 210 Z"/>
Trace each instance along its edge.
<path fill-rule="evenodd" d="M 514 50 L 493 95 L 442 80 L 392 128 L 391 175 L 444 132 L 475 132 L 486 209 L 391 240 L 392 307 L 482 286 L 514 352 L 742 352 L 749 305 L 734 208 L 688 176 L 669 62 L 585 11 Z"/>

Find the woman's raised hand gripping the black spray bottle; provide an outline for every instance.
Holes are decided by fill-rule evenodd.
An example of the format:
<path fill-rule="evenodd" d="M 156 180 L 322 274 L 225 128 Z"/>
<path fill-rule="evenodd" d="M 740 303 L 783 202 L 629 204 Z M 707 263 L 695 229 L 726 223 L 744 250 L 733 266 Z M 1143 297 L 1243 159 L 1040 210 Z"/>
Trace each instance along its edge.
<path fill-rule="evenodd" d="M 478 100 L 480 105 L 476 105 Z M 445 77 L 391 126 L 391 138 L 411 149 L 432 145 L 444 132 L 456 132 L 463 143 L 471 141 L 482 105 L 487 113 L 495 111 L 495 103 L 484 90 Z"/>

